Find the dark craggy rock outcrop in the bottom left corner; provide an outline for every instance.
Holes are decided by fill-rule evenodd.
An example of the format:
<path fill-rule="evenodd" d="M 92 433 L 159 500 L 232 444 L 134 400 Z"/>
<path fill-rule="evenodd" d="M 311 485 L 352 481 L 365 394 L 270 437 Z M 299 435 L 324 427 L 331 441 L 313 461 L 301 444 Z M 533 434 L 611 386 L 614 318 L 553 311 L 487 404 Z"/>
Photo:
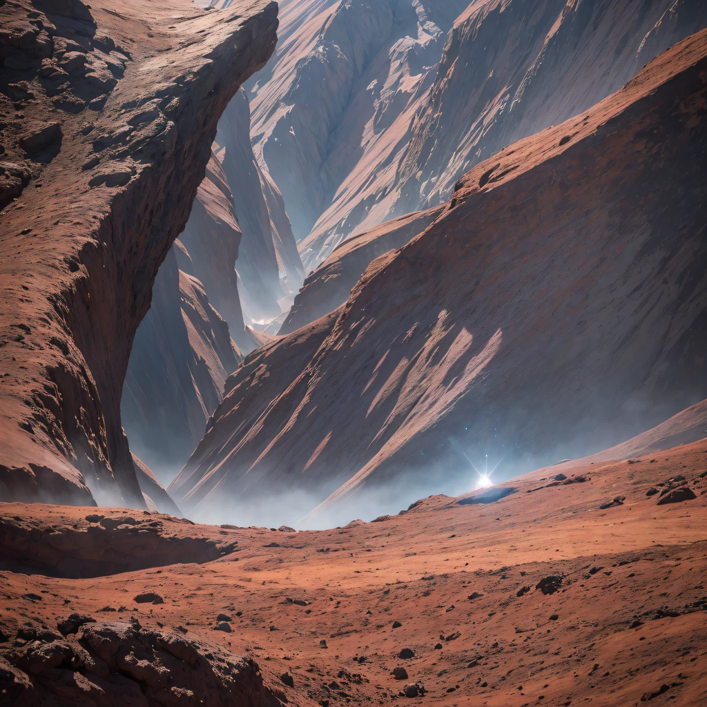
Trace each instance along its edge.
<path fill-rule="evenodd" d="M 78 635 L 33 622 L 18 627 L 15 645 L 0 648 L 0 689 L 9 705 L 280 704 L 252 658 L 137 619 L 83 619 Z"/>

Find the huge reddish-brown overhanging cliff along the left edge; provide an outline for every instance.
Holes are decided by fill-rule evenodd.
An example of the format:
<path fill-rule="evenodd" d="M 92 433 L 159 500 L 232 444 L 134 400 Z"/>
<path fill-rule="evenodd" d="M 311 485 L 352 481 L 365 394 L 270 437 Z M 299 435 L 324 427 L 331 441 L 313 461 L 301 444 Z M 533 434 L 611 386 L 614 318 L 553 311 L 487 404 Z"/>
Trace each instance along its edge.
<path fill-rule="evenodd" d="M 0 489 L 143 506 L 120 397 L 216 122 L 276 4 L 0 6 Z"/>

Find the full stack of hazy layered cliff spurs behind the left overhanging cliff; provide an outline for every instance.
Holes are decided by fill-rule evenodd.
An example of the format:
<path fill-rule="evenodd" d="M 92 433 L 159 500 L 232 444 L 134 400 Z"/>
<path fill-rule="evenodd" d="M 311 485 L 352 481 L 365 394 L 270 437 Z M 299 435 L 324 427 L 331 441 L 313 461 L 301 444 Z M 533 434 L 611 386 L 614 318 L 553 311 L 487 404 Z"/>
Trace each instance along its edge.
<path fill-rule="evenodd" d="M 241 298 L 249 321 L 273 317 L 281 312 L 278 300 L 303 276 L 282 198 L 255 163 L 249 131 L 247 98 L 239 90 L 221 117 L 223 146 L 214 143 L 129 361 L 123 426 L 165 483 L 199 443 L 240 352 L 262 344 L 245 325 Z"/>

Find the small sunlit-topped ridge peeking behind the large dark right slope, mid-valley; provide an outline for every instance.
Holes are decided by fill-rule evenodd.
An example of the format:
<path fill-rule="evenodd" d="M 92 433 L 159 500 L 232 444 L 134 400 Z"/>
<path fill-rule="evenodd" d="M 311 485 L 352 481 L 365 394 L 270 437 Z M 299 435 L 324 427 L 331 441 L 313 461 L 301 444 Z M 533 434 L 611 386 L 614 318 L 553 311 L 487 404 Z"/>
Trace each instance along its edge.
<path fill-rule="evenodd" d="M 373 259 L 402 248 L 414 235 L 422 233 L 443 208 L 436 206 L 386 221 L 334 248 L 332 255 L 305 278 L 278 333 L 290 334 L 344 304 Z"/>

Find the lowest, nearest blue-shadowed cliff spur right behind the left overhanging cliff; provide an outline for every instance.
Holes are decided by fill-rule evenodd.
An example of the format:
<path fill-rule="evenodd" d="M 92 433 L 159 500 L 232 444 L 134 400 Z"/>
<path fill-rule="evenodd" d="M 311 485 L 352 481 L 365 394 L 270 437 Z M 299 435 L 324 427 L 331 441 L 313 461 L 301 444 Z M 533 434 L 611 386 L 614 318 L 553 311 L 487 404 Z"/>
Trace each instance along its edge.
<path fill-rule="evenodd" d="M 132 450 L 165 483 L 203 436 L 206 420 L 223 398 L 223 384 L 241 360 L 228 325 L 209 303 L 189 254 L 179 246 L 177 241 L 155 279 L 121 403 Z"/>

